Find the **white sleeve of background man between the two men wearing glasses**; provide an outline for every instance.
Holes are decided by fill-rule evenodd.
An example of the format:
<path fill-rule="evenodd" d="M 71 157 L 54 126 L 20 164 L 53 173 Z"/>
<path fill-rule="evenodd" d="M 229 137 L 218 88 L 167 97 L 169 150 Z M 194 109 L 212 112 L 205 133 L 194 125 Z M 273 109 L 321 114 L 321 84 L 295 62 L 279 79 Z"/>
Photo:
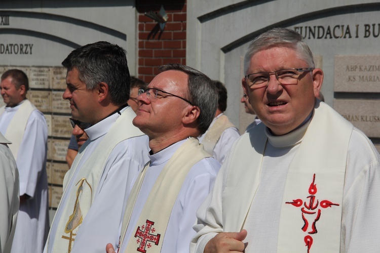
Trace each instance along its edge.
<path fill-rule="evenodd" d="M 227 128 L 223 131 L 212 152 L 214 158 L 220 164 L 224 162 L 224 159 L 230 152 L 232 145 L 239 137 L 240 133 L 236 128 Z"/>

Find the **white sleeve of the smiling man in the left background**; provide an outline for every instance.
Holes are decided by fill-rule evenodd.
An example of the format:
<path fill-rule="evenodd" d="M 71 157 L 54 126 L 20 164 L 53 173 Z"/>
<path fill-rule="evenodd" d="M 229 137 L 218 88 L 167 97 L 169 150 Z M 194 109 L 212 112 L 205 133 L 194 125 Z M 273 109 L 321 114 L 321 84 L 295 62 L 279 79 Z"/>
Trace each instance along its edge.
<path fill-rule="evenodd" d="M 42 112 L 34 110 L 28 119 L 17 155 L 20 196 L 34 196 L 41 171 L 46 166 L 48 125 Z"/>

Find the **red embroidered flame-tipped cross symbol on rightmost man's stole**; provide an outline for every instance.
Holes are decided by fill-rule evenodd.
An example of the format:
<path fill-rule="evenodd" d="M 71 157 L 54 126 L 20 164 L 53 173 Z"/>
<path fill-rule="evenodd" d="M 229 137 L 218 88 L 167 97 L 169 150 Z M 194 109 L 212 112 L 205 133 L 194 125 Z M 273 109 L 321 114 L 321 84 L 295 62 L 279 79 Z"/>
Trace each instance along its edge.
<path fill-rule="evenodd" d="M 308 253 L 310 253 L 310 248 L 313 244 L 313 237 L 312 234 L 318 233 L 316 223 L 321 218 L 321 208 L 327 208 L 331 207 L 332 205 L 339 205 L 332 203 L 328 200 L 322 200 L 319 202 L 318 199 L 316 199 L 315 194 L 317 193 L 317 185 L 315 184 L 315 174 L 313 176 L 313 182 L 310 184 L 309 187 L 309 194 L 310 196 L 307 197 L 307 201 L 303 201 L 302 199 L 293 199 L 291 202 L 285 202 L 286 204 L 292 204 L 295 207 L 301 207 L 301 214 L 302 214 L 302 220 L 303 220 L 303 227 L 301 228 L 303 232 L 307 232 L 308 235 L 305 236 L 305 246 L 307 246 Z"/>

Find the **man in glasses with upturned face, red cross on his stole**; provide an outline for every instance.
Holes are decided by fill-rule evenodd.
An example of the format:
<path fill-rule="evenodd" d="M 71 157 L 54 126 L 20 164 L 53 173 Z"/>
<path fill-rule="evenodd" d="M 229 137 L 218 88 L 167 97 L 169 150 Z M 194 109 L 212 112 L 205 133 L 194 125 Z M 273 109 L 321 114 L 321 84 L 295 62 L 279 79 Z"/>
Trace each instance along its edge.
<path fill-rule="evenodd" d="M 216 111 L 211 79 L 179 64 L 160 70 L 137 97 L 133 124 L 149 137 L 150 162 L 129 194 L 118 252 L 188 252 L 196 210 L 220 167 L 197 139 Z"/>

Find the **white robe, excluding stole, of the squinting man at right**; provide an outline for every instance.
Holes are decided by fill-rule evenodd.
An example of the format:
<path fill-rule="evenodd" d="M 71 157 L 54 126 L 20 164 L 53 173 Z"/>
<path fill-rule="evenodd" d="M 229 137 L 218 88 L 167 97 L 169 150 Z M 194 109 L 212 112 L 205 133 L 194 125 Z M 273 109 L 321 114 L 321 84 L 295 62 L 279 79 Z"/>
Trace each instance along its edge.
<path fill-rule="evenodd" d="M 320 123 L 324 124 L 323 122 Z M 333 125 L 332 127 L 339 130 L 339 125 Z M 283 201 L 282 193 L 289 164 L 297 153 L 307 128 L 308 123 L 289 134 L 277 137 L 270 135 L 268 131 L 262 133 L 268 136 L 268 143 L 262 159 L 259 186 L 251 202 L 249 212 L 246 213 L 243 226 L 248 231 L 244 240 L 247 243 L 245 249 L 247 253 L 282 252 L 287 250 L 285 248 L 278 249 L 277 247 Z M 323 135 L 324 133 L 320 134 Z M 246 133 L 242 138 L 249 139 L 249 133 Z M 318 138 L 318 136 L 315 138 Z M 327 147 L 329 143 L 325 145 Z M 239 157 L 237 156 L 237 158 Z M 323 158 L 320 157 L 320 159 Z M 247 159 L 247 157 L 241 157 L 241 159 Z M 225 175 L 228 170 L 233 168 L 234 164 L 223 165 L 216 179 L 213 193 L 208 196 L 197 212 L 199 224 L 195 226 L 195 229 L 197 231 L 201 230 L 197 234 L 197 237 L 201 237 L 198 239 L 197 245 L 192 243 L 192 250 L 196 252 L 203 252 L 204 246 L 218 232 L 238 232 L 225 231 L 223 228 L 225 219 L 228 218 L 224 217 L 225 212 L 222 212 L 222 205 L 226 205 L 226 203 L 222 203 L 224 195 L 222 192 L 226 182 Z M 242 177 L 244 176 L 242 175 Z M 318 182 L 317 179 L 316 184 L 319 189 L 323 188 L 323 184 Z M 241 187 L 249 188 L 249 186 L 245 185 Z M 343 202 L 340 204 L 342 207 L 340 252 L 378 252 L 380 240 L 378 240 L 376 231 L 380 226 L 379 195 L 380 155 L 368 138 L 354 128 L 348 145 Z M 244 201 L 245 196 L 240 197 Z M 213 213 L 211 213 L 211 210 L 213 210 Z M 323 212 L 324 210 L 320 219 L 324 219 Z M 295 222 L 297 224 L 298 222 L 301 223 L 299 225 L 301 229 L 302 220 L 299 219 Z M 318 222 L 316 225 L 318 228 Z M 307 248 L 305 247 L 305 251 L 302 252 L 307 252 Z M 312 252 L 315 252 L 313 251 L 313 246 L 310 249 L 310 253 Z"/>

